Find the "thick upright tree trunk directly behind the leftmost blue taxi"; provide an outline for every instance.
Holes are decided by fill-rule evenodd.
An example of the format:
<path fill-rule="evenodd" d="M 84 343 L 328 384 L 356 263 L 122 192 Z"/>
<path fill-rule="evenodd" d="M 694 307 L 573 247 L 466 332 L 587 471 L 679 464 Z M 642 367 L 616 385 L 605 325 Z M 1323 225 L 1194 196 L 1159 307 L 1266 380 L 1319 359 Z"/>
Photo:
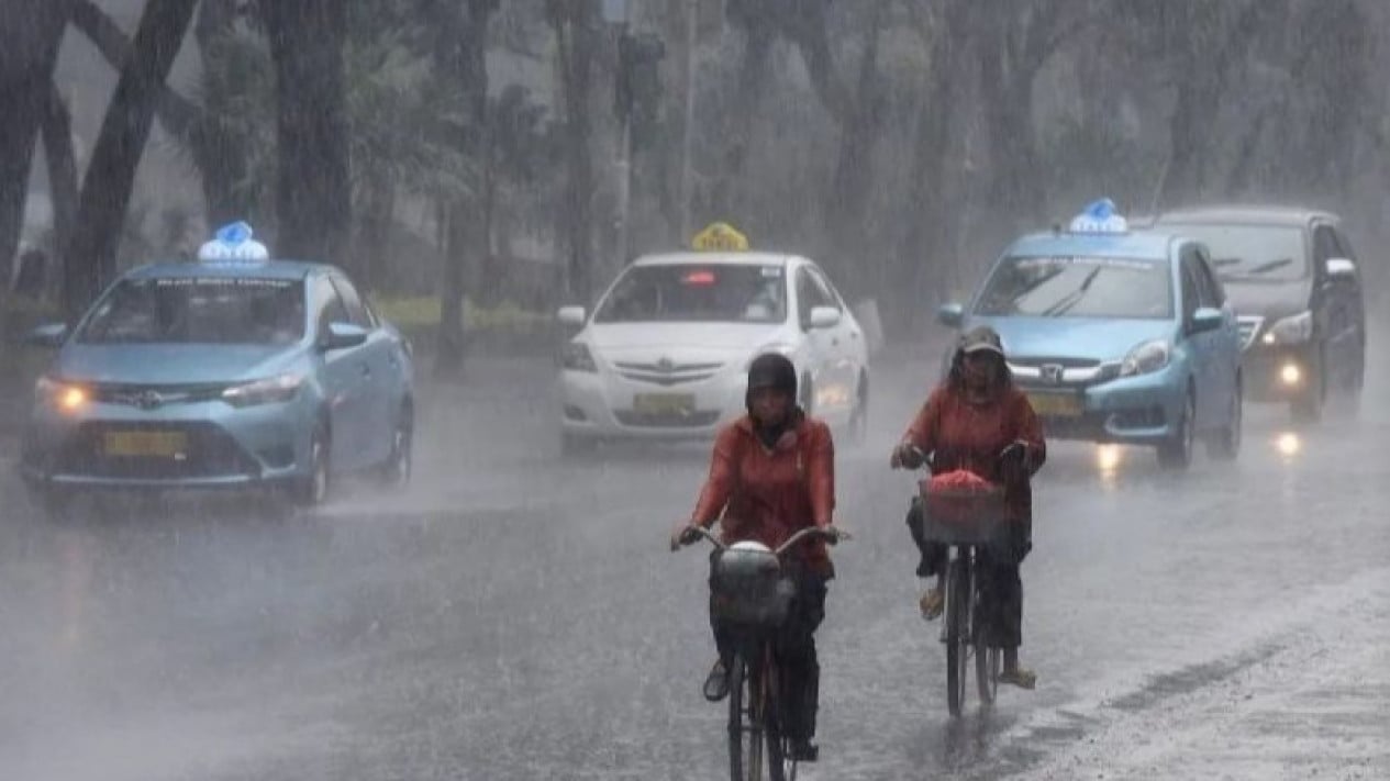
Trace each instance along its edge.
<path fill-rule="evenodd" d="M 342 263 L 352 225 L 343 4 L 277 0 L 259 7 L 275 65 L 275 252 L 281 257 Z"/>

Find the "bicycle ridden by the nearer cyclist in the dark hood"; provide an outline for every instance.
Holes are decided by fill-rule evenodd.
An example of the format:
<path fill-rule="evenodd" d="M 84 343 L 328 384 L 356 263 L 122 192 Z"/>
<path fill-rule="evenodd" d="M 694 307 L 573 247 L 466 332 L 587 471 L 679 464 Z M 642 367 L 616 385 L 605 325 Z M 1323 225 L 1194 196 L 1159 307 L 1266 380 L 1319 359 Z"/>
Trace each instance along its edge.
<path fill-rule="evenodd" d="M 724 545 L 698 525 L 688 531 L 703 536 L 717 550 L 710 560 L 710 586 L 719 606 L 716 617 L 727 621 L 734 635 L 734 657 L 728 667 L 730 778 L 796 781 L 791 739 L 781 732 L 784 692 L 773 653 L 776 632 L 795 596 L 795 584 L 783 571 L 783 556 L 812 538 L 834 545 L 849 535 L 834 527 L 808 527 L 773 550 L 760 542 Z"/>

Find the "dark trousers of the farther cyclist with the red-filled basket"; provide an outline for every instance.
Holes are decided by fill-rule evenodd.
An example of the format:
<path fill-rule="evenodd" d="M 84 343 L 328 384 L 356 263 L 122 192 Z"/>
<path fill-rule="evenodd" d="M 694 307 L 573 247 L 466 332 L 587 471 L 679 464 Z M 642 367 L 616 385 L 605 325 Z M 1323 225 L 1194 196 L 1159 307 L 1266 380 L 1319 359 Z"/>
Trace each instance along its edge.
<path fill-rule="evenodd" d="M 948 546 L 926 539 L 922 527 L 922 502 L 913 500 L 908 510 L 908 531 L 922 553 L 917 577 L 944 574 Z M 991 648 L 1023 645 L 1023 579 L 1019 577 L 1019 564 L 1031 549 L 1033 542 L 1022 527 L 1008 539 L 979 548 L 974 577 L 980 588 L 980 627 Z"/>

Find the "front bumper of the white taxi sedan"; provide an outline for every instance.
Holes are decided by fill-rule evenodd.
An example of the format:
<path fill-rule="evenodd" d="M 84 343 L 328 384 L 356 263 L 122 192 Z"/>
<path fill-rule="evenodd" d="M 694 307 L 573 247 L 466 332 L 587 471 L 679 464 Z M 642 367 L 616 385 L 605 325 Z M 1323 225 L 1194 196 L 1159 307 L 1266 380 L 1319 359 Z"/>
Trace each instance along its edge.
<path fill-rule="evenodd" d="M 745 413 L 748 379 L 730 367 L 708 379 L 659 385 L 600 367 L 560 372 L 560 421 L 567 436 L 594 439 L 710 439 Z M 642 403 L 639 403 L 642 402 Z"/>

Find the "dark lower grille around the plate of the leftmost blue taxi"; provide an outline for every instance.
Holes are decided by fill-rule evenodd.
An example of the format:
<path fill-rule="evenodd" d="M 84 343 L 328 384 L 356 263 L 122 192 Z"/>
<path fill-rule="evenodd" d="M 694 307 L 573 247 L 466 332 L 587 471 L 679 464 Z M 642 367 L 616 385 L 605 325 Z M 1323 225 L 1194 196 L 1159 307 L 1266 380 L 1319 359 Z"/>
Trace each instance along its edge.
<path fill-rule="evenodd" d="M 177 434 L 186 438 L 182 457 L 108 456 L 108 432 Z M 85 422 L 68 439 L 56 464 L 60 474 L 110 479 L 181 479 L 259 477 L 260 466 L 236 441 L 210 422 Z"/>

